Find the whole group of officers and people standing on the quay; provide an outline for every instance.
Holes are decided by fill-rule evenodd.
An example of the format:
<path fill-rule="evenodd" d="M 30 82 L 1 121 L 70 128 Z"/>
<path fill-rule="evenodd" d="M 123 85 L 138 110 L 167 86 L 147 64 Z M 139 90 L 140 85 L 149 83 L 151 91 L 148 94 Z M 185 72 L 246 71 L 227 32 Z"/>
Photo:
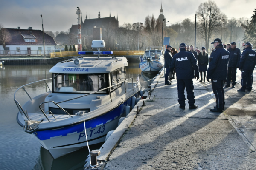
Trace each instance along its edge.
<path fill-rule="evenodd" d="M 244 51 L 241 54 L 240 49 L 236 48 L 236 42 L 227 44 L 227 49 L 224 48 L 224 44 L 219 38 L 216 38 L 211 44 L 213 44 L 214 50 L 212 50 L 210 57 L 208 57 L 205 47 L 202 47 L 202 51 L 198 53 L 196 49 L 194 50 L 193 45 L 189 46 L 181 43 L 179 46 L 180 51 L 178 52 L 172 46 L 167 45 L 164 54 L 164 67 L 166 68 L 165 85 L 172 84 L 172 79 L 175 78 L 174 73 L 176 72 L 178 102 L 181 109 L 185 109 L 186 105 L 185 88 L 189 109 L 198 107 L 195 105 L 192 79 L 197 78 L 198 80 L 199 73 L 201 77 L 199 82 L 205 82 L 205 79 L 209 82 L 209 79 L 211 79 L 212 90 L 216 98 L 216 105 L 210 109 L 212 112 L 221 113 L 224 110 L 224 81 L 227 82 L 226 88 L 230 87 L 231 81 L 234 88 L 236 85 L 237 68 L 242 73 L 242 87 L 237 91 L 245 92 L 246 89 L 247 91 L 252 90 L 253 70 L 256 65 L 256 51 L 252 49 L 253 45 L 250 42 L 244 44 Z M 207 68 L 208 64 L 209 67 Z"/>

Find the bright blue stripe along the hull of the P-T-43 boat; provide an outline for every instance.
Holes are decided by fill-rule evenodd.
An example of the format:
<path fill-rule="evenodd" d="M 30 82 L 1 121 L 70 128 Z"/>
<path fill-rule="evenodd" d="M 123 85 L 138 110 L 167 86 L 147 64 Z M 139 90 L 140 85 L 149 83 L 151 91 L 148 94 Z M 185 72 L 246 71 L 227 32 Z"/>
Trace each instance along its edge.
<path fill-rule="evenodd" d="M 137 94 L 134 94 L 137 96 Z M 117 108 L 105 113 L 102 116 L 96 117 L 94 119 L 88 120 L 85 122 L 86 128 L 95 128 L 97 125 L 104 125 L 111 120 L 117 119 L 123 113 L 125 113 L 125 106 L 129 105 L 131 107 L 131 97 L 126 100 L 124 103 L 119 105 Z M 84 122 L 79 123 L 77 125 L 67 126 L 56 130 L 44 130 L 44 131 L 37 131 L 38 139 L 40 140 L 47 140 L 55 136 L 67 136 L 69 133 L 80 133 L 84 131 Z"/>

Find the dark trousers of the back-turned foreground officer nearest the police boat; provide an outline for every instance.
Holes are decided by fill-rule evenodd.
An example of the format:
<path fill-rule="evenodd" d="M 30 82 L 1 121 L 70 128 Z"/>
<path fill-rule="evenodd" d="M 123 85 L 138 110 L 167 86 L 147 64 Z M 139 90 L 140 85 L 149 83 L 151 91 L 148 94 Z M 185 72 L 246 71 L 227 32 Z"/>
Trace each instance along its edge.
<path fill-rule="evenodd" d="M 195 96 L 194 96 L 194 85 L 192 79 L 178 79 L 177 80 L 177 89 L 178 89 L 178 102 L 180 106 L 185 106 L 185 87 L 187 92 L 187 98 L 189 100 L 189 105 L 195 104 Z"/>

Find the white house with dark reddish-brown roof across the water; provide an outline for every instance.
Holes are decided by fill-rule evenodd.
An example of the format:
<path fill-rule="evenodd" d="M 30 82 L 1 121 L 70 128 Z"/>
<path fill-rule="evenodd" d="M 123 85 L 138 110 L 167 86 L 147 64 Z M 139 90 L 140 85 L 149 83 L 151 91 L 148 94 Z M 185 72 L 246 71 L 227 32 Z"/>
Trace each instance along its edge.
<path fill-rule="evenodd" d="M 56 49 L 56 42 L 52 36 L 43 31 L 33 30 L 32 27 L 28 29 L 3 28 L 6 34 L 5 48 L 0 45 L 0 54 L 9 55 L 43 55 L 44 44 L 45 54 L 54 52 Z"/>

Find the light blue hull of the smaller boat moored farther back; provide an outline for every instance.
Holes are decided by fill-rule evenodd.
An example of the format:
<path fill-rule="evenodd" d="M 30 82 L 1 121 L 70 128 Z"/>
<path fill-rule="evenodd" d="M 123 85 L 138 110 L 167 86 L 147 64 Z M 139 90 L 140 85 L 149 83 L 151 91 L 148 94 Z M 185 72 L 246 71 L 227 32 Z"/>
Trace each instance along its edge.
<path fill-rule="evenodd" d="M 163 66 L 164 62 L 156 60 L 140 62 L 141 71 L 148 74 L 159 72 Z"/>

